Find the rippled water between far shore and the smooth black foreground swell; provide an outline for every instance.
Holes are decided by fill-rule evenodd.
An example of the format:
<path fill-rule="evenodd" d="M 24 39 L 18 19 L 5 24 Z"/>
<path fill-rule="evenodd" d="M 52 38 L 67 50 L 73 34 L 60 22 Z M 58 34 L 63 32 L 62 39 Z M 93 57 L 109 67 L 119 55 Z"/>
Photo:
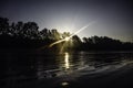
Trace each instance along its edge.
<path fill-rule="evenodd" d="M 79 77 L 110 74 L 132 63 L 133 52 L 7 53 L 0 58 L 0 85 L 18 88 L 25 82 L 54 79 L 66 86 L 66 81 Z"/>

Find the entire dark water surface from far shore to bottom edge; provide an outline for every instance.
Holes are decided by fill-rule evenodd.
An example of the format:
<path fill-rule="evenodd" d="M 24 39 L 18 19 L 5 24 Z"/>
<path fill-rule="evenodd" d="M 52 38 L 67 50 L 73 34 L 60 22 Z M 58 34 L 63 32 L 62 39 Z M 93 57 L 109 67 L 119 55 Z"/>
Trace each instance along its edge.
<path fill-rule="evenodd" d="M 25 57 L 28 56 L 25 55 Z M 44 58 L 31 56 L 23 61 L 13 61 L 12 68 L 9 65 L 8 75 L 1 75 L 0 88 L 133 88 L 133 53 L 92 54 L 82 52 L 41 56 Z M 54 58 L 55 56 L 57 58 Z M 16 57 L 18 58 L 18 56 Z M 19 57 L 23 58 L 20 55 Z M 53 62 L 53 58 L 58 61 Z M 109 59 L 113 59 L 113 62 Z M 83 64 L 83 62 L 88 63 Z"/>

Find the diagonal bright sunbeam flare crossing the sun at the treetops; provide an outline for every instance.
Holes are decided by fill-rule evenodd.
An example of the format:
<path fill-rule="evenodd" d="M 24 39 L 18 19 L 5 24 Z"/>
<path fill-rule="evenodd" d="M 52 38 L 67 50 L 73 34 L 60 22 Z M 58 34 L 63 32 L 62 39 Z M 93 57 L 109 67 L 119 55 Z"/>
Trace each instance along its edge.
<path fill-rule="evenodd" d="M 59 41 L 57 41 L 57 42 L 54 42 L 54 43 L 52 43 L 52 44 L 50 44 L 49 47 L 52 47 L 53 45 L 59 44 L 59 43 L 61 43 L 61 42 L 69 41 L 72 36 L 74 36 L 75 34 L 80 33 L 81 31 L 85 30 L 86 28 L 89 28 L 89 26 L 92 25 L 93 23 L 95 23 L 95 21 L 93 21 L 93 22 L 89 23 L 88 25 L 81 28 L 80 30 L 78 30 L 78 31 L 76 31 L 75 33 L 73 33 L 72 35 L 70 35 L 70 36 L 68 36 L 68 37 L 65 37 L 65 38 L 63 38 L 63 40 L 59 40 Z"/>

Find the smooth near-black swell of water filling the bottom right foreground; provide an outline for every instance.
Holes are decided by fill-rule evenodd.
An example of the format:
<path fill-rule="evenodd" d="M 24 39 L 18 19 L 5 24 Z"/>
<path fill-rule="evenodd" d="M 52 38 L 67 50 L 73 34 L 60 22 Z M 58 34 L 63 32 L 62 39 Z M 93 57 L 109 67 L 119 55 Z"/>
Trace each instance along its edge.
<path fill-rule="evenodd" d="M 23 84 L 17 88 L 133 88 L 133 65 L 110 74 L 83 76 L 69 81 L 68 77 Z"/>

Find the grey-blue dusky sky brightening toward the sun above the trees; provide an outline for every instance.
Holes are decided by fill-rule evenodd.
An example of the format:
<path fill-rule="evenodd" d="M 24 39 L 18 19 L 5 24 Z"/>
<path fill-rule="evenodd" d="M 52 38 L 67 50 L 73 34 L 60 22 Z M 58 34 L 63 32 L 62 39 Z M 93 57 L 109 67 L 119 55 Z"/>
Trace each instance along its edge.
<path fill-rule="evenodd" d="M 0 0 L 0 16 L 71 33 L 94 21 L 78 34 L 81 38 L 98 35 L 133 42 L 132 0 Z"/>

